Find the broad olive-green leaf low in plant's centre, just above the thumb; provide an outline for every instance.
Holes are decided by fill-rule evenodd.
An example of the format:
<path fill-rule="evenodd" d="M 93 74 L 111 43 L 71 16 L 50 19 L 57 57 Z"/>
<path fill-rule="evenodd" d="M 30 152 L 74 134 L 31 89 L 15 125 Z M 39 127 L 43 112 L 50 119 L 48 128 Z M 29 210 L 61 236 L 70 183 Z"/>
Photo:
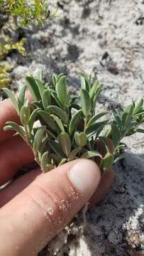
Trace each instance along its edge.
<path fill-rule="evenodd" d="M 62 150 L 68 157 L 70 155 L 70 151 L 71 151 L 70 136 L 66 132 L 61 133 L 61 134 L 59 134 L 59 139 L 60 139 L 60 144 L 62 145 Z"/>

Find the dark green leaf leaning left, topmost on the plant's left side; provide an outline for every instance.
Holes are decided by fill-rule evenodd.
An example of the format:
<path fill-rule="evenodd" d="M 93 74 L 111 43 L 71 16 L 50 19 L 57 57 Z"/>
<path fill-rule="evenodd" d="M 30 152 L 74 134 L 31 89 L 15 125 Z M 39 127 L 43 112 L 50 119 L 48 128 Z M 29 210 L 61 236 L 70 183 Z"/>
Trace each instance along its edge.
<path fill-rule="evenodd" d="M 33 97 L 33 100 L 39 101 L 40 100 L 40 92 L 38 90 L 38 85 L 35 82 L 35 78 L 33 78 L 32 75 L 28 75 L 26 77 L 26 80 L 28 82 L 28 89 L 31 92 L 31 96 Z"/>

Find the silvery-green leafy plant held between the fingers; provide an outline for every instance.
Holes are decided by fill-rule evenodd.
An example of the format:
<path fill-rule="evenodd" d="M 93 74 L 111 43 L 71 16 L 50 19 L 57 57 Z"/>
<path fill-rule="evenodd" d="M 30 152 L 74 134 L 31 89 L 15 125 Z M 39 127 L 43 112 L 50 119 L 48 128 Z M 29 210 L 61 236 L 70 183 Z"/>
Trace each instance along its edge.
<path fill-rule="evenodd" d="M 138 128 L 144 122 L 143 100 L 133 102 L 122 113 L 115 110 L 110 118 L 108 112 L 96 110 L 102 88 L 90 76 L 81 75 L 81 89 L 75 96 L 67 90 L 63 74 L 52 75 L 52 82 L 45 83 L 42 73 L 38 78 L 28 75 L 26 81 L 19 97 L 4 88 L 21 119 L 21 125 L 6 122 L 4 130 L 14 130 L 31 146 L 44 173 L 78 158 L 99 159 L 104 173 L 121 159 L 121 149 L 126 146 L 121 139 L 144 132 Z M 33 102 L 26 100 L 26 88 Z M 113 153 L 108 137 L 113 142 Z M 104 144 L 104 156 L 99 142 Z"/>

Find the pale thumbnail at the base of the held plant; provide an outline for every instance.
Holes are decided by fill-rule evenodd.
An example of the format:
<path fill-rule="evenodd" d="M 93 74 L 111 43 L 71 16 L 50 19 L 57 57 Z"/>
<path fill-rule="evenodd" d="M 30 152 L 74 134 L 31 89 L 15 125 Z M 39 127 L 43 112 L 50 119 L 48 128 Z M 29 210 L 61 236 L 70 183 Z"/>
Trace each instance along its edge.
<path fill-rule="evenodd" d="M 101 178 L 98 166 L 94 161 L 87 159 L 77 161 L 70 169 L 68 176 L 74 188 L 86 196 L 94 193 Z"/>

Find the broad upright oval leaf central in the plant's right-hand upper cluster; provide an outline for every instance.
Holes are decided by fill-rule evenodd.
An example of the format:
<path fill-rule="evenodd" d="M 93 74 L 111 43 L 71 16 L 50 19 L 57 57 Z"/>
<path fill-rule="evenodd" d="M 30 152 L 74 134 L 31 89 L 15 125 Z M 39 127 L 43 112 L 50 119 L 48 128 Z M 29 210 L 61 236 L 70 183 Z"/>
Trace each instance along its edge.
<path fill-rule="evenodd" d="M 82 112 L 84 113 L 85 116 L 88 116 L 92 108 L 89 92 L 87 92 L 87 90 L 81 89 L 80 97 L 81 97 Z"/>

